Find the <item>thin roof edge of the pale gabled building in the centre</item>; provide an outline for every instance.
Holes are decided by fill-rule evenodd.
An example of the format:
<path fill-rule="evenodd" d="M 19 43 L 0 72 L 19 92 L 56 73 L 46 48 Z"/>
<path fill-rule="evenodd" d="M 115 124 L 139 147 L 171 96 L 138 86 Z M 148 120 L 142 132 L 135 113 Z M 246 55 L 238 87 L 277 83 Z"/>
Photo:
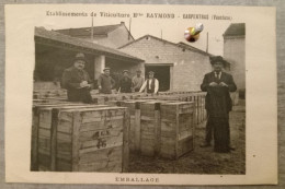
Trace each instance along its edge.
<path fill-rule="evenodd" d="M 136 39 L 136 40 L 133 40 L 133 42 L 130 42 L 130 43 L 128 43 L 128 44 L 126 44 L 126 45 L 123 45 L 122 47 L 118 47 L 118 49 L 124 48 L 124 47 L 126 47 L 126 46 L 128 46 L 128 45 L 130 45 L 130 44 L 134 44 L 134 43 L 136 43 L 136 42 L 138 42 L 138 40 L 140 40 L 140 39 L 142 39 L 142 38 L 145 38 L 145 37 L 152 37 L 152 38 L 155 38 L 155 39 L 157 39 L 157 40 L 160 40 L 160 42 L 162 42 L 162 43 L 168 43 L 168 44 L 170 44 L 170 45 L 174 45 L 174 46 L 180 47 L 180 48 L 185 48 L 185 49 L 191 50 L 191 51 L 195 51 L 195 52 L 198 52 L 198 54 L 203 54 L 203 55 L 206 55 L 206 56 L 210 56 L 210 54 L 208 54 L 208 52 L 206 52 L 206 51 L 203 51 L 203 50 L 201 50 L 201 49 L 198 49 L 198 48 L 195 48 L 195 47 L 193 47 L 193 46 L 191 46 L 191 45 L 184 44 L 184 43 L 182 43 L 182 42 L 180 42 L 180 43 L 178 43 L 178 44 L 174 44 L 174 43 L 172 43 L 172 42 L 169 42 L 169 40 L 166 40 L 166 39 L 161 39 L 161 38 L 155 37 L 155 36 L 152 36 L 152 35 L 145 35 L 145 36 L 142 36 L 142 37 Z"/>

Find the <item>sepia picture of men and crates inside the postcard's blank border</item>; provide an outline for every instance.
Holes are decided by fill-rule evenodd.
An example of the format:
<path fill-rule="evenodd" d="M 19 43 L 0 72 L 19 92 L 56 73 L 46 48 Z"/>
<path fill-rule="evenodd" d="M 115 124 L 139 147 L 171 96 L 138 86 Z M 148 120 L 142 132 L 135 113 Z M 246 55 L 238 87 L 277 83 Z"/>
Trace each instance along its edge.
<path fill-rule="evenodd" d="M 246 24 L 221 56 L 163 31 L 35 27 L 32 170 L 246 174 Z"/>

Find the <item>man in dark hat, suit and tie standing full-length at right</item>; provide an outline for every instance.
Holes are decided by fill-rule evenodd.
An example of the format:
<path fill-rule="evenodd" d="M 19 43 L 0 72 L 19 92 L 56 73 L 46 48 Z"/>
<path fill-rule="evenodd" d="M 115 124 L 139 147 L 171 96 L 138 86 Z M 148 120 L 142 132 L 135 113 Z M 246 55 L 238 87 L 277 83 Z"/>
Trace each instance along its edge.
<path fill-rule="evenodd" d="M 214 133 L 214 151 L 227 153 L 235 150 L 230 146 L 229 111 L 232 103 L 230 92 L 237 91 L 232 75 L 223 71 L 226 61 L 220 56 L 210 57 L 214 71 L 205 74 L 201 90 L 207 92 L 205 108 L 207 125 L 205 142 L 201 147 L 210 146 Z"/>

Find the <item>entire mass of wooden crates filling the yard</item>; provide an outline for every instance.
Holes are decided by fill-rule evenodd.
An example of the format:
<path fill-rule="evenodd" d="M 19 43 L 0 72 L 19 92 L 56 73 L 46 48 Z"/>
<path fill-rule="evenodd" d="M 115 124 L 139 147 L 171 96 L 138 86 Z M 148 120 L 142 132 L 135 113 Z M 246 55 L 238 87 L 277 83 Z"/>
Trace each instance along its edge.
<path fill-rule="evenodd" d="M 32 170 L 125 173 L 129 150 L 175 160 L 206 119 L 202 92 L 92 94 L 92 105 L 48 94 L 34 93 Z"/>

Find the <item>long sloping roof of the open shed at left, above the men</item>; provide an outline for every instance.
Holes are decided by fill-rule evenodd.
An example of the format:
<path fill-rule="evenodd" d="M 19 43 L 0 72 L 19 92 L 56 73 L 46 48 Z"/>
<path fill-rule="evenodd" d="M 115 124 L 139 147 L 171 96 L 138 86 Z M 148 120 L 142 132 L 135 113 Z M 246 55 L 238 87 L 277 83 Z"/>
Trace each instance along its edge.
<path fill-rule="evenodd" d="M 78 47 L 83 47 L 88 49 L 92 49 L 98 54 L 109 55 L 109 56 L 118 56 L 121 58 L 132 59 L 135 61 L 144 61 L 137 57 L 130 56 L 126 52 L 119 51 L 117 49 L 109 48 L 99 44 L 94 44 L 91 42 L 87 42 L 77 37 L 70 37 L 58 32 L 47 31 L 44 27 L 35 27 L 35 38 L 46 38 L 49 40 L 60 42 L 64 44 L 69 44 Z"/>

